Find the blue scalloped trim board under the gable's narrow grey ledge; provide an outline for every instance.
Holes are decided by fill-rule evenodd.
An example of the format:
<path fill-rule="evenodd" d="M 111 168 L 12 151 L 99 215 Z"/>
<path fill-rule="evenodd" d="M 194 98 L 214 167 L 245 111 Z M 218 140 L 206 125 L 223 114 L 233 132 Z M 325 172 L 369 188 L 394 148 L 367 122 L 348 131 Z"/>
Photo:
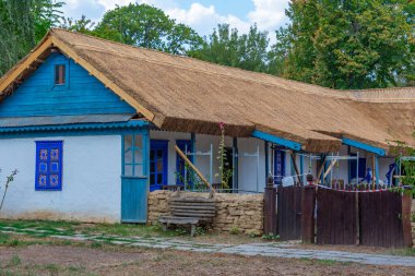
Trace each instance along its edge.
<path fill-rule="evenodd" d="M 13 127 L 0 128 L 1 133 L 24 133 L 24 132 L 43 132 L 43 131 L 79 131 L 79 130 L 111 130 L 142 128 L 149 125 L 149 121 L 132 120 L 128 122 L 111 123 L 74 123 L 74 124 L 51 124 L 51 125 L 33 125 L 33 127 Z"/>

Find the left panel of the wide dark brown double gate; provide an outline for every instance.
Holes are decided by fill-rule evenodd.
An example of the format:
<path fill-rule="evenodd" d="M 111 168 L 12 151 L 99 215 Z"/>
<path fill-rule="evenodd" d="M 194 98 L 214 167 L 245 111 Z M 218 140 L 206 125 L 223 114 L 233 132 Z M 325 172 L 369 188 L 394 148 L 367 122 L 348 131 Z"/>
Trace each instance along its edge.
<path fill-rule="evenodd" d="M 316 207 L 318 244 L 357 244 L 356 193 L 320 189 Z"/>

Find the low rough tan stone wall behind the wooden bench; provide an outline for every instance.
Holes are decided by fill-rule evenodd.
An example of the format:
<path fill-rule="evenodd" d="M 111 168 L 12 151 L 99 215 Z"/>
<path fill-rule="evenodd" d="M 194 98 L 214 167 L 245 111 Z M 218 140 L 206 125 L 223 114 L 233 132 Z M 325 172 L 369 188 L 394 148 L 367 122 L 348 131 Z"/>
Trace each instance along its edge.
<path fill-rule="evenodd" d="M 149 223 L 157 223 L 162 215 L 168 215 L 170 191 L 154 191 L 149 195 Z M 203 196 L 209 193 L 181 192 L 182 196 Z M 247 235 L 262 235 L 263 231 L 263 194 L 215 193 L 217 216 L 212 228 L 214 231 L 235 231 Z"/>

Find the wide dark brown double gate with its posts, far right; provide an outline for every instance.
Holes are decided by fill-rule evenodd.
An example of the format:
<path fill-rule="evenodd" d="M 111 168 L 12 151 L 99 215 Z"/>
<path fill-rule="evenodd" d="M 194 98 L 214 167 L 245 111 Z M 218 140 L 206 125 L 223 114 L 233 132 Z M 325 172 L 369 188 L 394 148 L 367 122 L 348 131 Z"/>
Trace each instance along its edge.
<path fill-rule="evenodd" d="M 315 196 L 317 200 L 307 197 Z M 317 209 L 316 240 L 310 233 L 315 218 L 303 218 L 303 239 L 318 244 L 412 247 L 410 195 L 399 192 L 345 192 L 316 189 L 304 199 L 303 213 Z M 308 232 L 307 232 L 308 229 Z"/>

